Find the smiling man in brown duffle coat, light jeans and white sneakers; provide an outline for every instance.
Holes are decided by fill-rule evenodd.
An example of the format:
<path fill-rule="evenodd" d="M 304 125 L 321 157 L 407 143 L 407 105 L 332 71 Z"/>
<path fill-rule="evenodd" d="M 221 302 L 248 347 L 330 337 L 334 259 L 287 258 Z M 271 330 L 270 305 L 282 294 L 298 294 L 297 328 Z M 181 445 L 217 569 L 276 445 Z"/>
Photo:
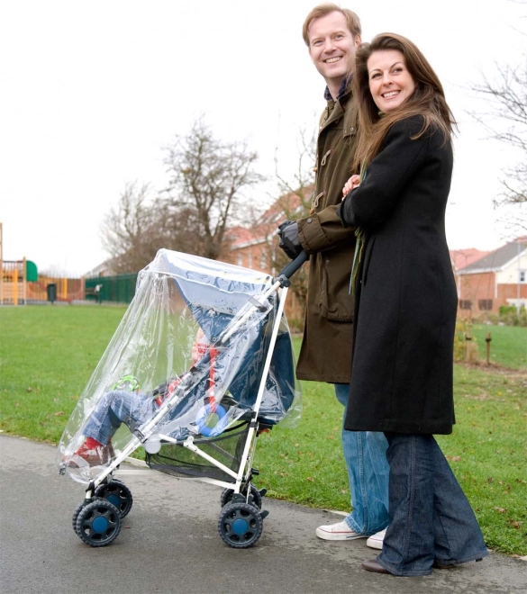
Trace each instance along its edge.
<path fill-rule="evenodd" d="M 355 235 L 342 227 L 335 211 L 352 173 L 356 149 L 357 114 L 350 83 L 360 32 L 359 17 L 336 4 L 316 6 L 304 21 L 304 41 L 327 85 L 327 106 L 317 140 L 310 214 L 285 221 L 278 231 L 287 256 L 295 257 L 302 249 L 310 255 L 304 338 L 296 375 L 300 380 L 333 383 L 344 407 L 350 389 L 353 300 L 349 288 Z M 386 446 L 382 433 L 342 430 L 353 510 L 342 522 L 318 527 L 316 536 L 324 540 L 371 536 L 367 544 L 382 548 L 388 523 Z"/>

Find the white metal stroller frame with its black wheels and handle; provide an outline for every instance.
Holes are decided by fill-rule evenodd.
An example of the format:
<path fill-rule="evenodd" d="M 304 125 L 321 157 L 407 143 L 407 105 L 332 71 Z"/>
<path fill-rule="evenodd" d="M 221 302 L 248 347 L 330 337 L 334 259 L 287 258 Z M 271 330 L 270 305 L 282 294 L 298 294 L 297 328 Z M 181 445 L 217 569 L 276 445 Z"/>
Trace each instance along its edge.
<path fill-rule="evenodd" d="M 249 428 L 245 437 L 245 445 L 241 455 L 241 462 L 238 472 L 228 468 L 214 456 L 204 452 L 195 444 L 194 436 L 187 436 L 184 439 L 176 439 L 168 435 L 156 433 L 159 421 L 163 419 L 170 410 L 173 410 L 185 396 L 185 382 L 178 385 L 170 398 L 163 401 L 159 410 L 147 420 L 141 427 L 132 430 L 132 441 L 123 448 L 123 451 L 116 455 L 114 460 L 104 471 L 92 479 L 85 494 L 85 500 L 77 506 L 73 516 L 73 527 L 77 536 L 86 544 L 91 546 L 109 545 L 119 535 L 121 530 L 121 519 L 124 518 L 132 507 L 132 493 L 126 485 L 120 481 L 114 481 L 114 476 L 141 474 L 145 470 L 122 470 L 120 465 L 129 459 L 129 456 L 139 446 L 144 446 L 147 453 L 159 451 L 161 444 L 172 444 L 186 447 L 195 455 L 219 468 L 223 473 L 232 477 L 232 482 L 221 481 L 212 477 L 181 477 L 184 480 L 207 482 L 223 487 L 221 497 L 222 511 L 218 522 L 218 530 L 223 541 L 233 548 L 247 548 L 254 545 L 261 535 L 263 519 L 268 516 L 268 511 L 261 511 L 261 501 L 267 490 L 258 490 L 252 483 L 252 477 L 258 475 L 259 471 L 252 468 L 252 460 L 256 450 L 256 438 L 259 435 L 259 409 L 264 396 L 269 368 L 271 365 L 274 348 L 277 342 L 278 330 L 284 313 L 290 276 L 308 259 L 303 251 L 273 280 L 268 289 L 259 296 L 261 301 L 253 298 L 250 300 L 250 307 L 238 320 L 223 330 L 217 339 L 215 346 L 225 344 L 232 334 L 240 329 L 246 320 L 250 318 L 254 309 L 266 307 L 268 297 L 278 293 L 277 315 L 273 321 L 268 352 L 265 359 L 259 391 L 255 404 L 250 411 Z M 219 403 L 219 402 L 218 402 Z M 248 413 L 249 415 L 249 413 Z M 266 424 L 266 428 L 271 427 Z M 155 437 L 155 439 L 152 439 Z M 199 440 L 198 440 L 199 441 Z M 159 446 L 159 448 L 158 448 Z M 143 463 L 144 464 L 144 463 Z M 142 465 L 142 464 L 141 464 Z M 147 464 L 145 464 L 146 466 Z M 153 470 L 153 469 L 149 469 Z M 98 522 L 98 523 L 97 523 Z M 99 527 L 103 525 L 101 531 Z"/>

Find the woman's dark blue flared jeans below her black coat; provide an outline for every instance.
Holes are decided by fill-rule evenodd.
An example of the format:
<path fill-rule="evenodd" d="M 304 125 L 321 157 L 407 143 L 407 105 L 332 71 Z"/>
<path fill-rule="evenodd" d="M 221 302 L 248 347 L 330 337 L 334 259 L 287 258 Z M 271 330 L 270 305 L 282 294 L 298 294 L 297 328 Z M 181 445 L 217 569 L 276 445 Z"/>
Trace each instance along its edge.
<path fill-rule="evenodd" d="M 390 523 L 377 561 L 394 575 L 429 575 L 434 561 L 485 557 L 485 542 L 449 463 L 431 435 L 386 433 Z"/>

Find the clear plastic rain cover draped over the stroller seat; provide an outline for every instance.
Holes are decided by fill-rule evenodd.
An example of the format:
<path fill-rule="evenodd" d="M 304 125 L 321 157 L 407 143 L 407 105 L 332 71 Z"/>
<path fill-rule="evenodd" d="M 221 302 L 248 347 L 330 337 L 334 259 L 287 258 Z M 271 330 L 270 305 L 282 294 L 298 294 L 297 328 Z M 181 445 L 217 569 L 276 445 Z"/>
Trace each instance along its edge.
<path fill-rule="evenodd" d="M 264 273 L 160 249 L 139 274 L 132 303 L 68 420 L 61 472 L 89 482 L 133 441 L 213 438 L 253 410 L 277 317 L 271 285 Z M 259 420 L 295 427 L 300 414 L 283 315 Z M 78 455 L 86 437 L 104 446 L 100 464 Z"/>

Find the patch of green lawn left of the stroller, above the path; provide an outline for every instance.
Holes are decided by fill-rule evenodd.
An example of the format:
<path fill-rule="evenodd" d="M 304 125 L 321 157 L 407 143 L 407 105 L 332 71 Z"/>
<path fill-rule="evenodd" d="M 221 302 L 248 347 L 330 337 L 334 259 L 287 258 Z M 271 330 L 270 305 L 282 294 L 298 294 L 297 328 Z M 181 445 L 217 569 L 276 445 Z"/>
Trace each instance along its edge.
<path fill-rule="evenodd" d="M 0 308 L 0 428 L 59 443 L 125 307 Z"/>

